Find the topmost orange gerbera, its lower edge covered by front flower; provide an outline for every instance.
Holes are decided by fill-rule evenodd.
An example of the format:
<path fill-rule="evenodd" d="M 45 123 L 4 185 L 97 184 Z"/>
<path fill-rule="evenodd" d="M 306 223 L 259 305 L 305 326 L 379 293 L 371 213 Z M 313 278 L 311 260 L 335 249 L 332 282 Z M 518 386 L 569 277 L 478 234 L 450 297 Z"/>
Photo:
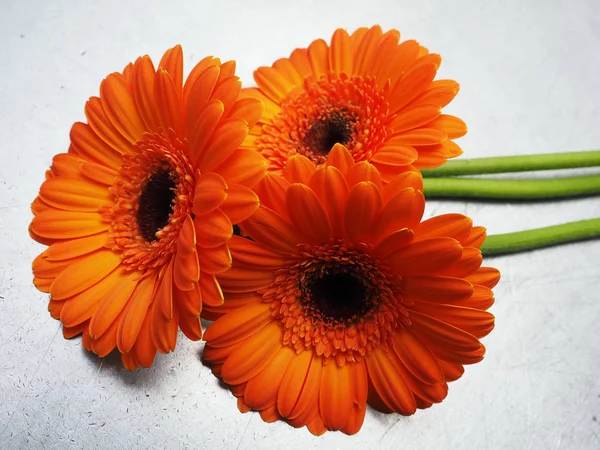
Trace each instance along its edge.
<path fill-rule="evenodd" d="M 440 56 L 399 39 L 398 31 L 382 33 L 379 26 L 352 35 L 338 29 L 331 45 L 318 39 L 273 67 L 260 67 L 258 88 L 242 95 L 263 101 L 265 114 L 244 145 L 281 173 L 292 155 L 322 164 L 334 144 L 343 144 L 386 181 L 408 165 L 435 167 L 460 155 L 452 139 L 463 136 L 466 125 L 441 114 L 458 83 L 433 81 Z"/>

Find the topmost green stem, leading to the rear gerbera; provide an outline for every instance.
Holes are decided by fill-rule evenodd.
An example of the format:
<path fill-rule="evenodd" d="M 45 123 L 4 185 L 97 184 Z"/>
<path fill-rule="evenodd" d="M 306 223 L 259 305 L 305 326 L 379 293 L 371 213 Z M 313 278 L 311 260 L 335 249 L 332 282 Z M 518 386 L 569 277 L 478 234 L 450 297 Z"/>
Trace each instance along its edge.
<path fill-rule="evenodd" d="M 600 151 L 544 153 L 541 155 L 498 156 L 457 159 L 436 169 L 422 170 L 424 177 L 481 175 L 486 173 L 529 172 L 600 166 Z"/>

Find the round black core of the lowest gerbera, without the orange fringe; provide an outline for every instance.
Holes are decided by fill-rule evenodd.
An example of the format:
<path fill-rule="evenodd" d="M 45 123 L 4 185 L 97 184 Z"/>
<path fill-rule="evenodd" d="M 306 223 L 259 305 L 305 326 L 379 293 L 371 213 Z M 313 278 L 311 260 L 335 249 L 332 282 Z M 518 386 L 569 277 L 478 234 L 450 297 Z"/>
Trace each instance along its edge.
<path fill-rule="evenodd" d="M 329 272 L 308 284 L 304 300 L 323 318 L 347 322 L 363 317 L 373 307 L 369 291 L 352 274 Z"/>

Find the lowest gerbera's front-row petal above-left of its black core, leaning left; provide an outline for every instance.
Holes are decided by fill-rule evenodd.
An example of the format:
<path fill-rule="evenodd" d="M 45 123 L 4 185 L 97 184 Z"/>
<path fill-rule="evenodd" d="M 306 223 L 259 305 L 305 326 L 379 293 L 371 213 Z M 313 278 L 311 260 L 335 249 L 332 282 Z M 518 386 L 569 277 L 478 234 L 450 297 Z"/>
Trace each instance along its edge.
<path fill-rule="evenodd" d="M 331 237 L 331 226 L 323 205 L 311 188 L 292 184 L 286 193 L 291 222 L 308 242 L 323 243 Z"/>

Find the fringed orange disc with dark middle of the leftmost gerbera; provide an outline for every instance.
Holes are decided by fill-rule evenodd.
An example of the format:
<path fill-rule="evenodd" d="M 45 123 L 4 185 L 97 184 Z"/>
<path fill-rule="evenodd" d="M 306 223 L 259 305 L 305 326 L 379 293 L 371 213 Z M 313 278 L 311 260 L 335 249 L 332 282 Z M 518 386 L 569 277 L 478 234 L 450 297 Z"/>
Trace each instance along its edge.
<path fill-rule="evenodd" d="M 194 169 L 185 141 L 173 132 L 146 134 L 123 157 L 102 211 L 111 224 L 109 246 L 129 270 L 160 269 L 177 251 L 177 239 L 194 201 Z"/>

